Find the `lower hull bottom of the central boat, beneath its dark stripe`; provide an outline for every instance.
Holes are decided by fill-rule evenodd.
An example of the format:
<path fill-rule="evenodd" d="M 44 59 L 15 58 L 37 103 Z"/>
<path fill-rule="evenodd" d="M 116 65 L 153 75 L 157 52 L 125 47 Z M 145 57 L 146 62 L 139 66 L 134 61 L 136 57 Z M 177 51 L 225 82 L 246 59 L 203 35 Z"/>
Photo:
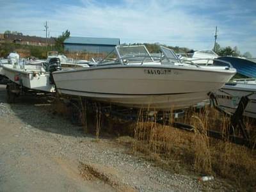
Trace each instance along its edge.
<path fill-rule="evenodd" d="M 58 89 L 60 93 L 88 97 L 100 102 L 113 103 L 129 108 L 149 108 L 170 111 L 172 109 L 188 108 L 207 99 L 207 93 L 181 93 L 170 95 L 114 95 L 77 92 L 74 90 Z"/>

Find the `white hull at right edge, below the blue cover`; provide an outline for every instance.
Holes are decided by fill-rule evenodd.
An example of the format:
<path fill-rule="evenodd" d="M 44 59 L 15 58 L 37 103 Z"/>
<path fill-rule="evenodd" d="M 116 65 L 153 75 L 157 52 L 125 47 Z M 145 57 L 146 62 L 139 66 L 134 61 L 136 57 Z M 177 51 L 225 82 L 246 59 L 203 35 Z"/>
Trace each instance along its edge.
<path fill-rule="evenodd" d="M 249 102 L 245 108 L 244 116 L 256 118 L 256 80 L 234 79 L 233 82 L 225 84 L 216 93 L 218 104 L 221 108 L 234 113 L 241 97 L 248 96 Z"/>

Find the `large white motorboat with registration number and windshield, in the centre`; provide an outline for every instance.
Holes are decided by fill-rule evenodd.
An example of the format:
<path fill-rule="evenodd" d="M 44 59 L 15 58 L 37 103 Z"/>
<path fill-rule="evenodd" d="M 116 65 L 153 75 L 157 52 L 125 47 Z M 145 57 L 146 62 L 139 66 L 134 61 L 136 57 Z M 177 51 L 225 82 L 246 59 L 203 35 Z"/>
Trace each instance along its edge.
<path fill-rule="evenodd" d="M 52 76 L 60 94 L 132 108 L 170 110 L 207 99 L 207 93 L 220 89 L 236 74 L 231 66 L 188 65 L 171 49 L 161 50 L 163 56 L 154 61 L 144 45 L 118 45 L 95 67 L 61 70 Z"/>

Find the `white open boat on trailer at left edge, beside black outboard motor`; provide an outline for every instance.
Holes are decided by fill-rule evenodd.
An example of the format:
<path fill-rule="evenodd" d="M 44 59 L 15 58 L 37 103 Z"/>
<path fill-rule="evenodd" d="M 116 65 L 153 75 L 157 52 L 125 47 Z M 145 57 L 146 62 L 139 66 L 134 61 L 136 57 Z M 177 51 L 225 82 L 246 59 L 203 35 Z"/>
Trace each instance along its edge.
<path fill-rule="evenodd" d="M 52 58 L 49 63 L 31 64 L 15 57 L 1 64 L 1 74 L 8 78 L 8 101 L 14 102 L 16 97 L 26 93 L 55 93 L 51 73 L 60 69 L 58 58 Z"/>

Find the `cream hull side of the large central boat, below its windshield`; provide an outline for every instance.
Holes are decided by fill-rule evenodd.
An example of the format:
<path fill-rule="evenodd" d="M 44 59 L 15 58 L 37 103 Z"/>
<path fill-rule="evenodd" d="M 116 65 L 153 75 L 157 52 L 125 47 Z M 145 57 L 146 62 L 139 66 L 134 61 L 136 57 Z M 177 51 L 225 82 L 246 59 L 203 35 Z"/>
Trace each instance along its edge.
<path fill-rule="evenodd" d="M 170 110 L 207 99 L 207 93 L 221 88 L 234 72 L 124 66 L 63 70 L 52 75 L 61 94 L 132 108 Z"/>

